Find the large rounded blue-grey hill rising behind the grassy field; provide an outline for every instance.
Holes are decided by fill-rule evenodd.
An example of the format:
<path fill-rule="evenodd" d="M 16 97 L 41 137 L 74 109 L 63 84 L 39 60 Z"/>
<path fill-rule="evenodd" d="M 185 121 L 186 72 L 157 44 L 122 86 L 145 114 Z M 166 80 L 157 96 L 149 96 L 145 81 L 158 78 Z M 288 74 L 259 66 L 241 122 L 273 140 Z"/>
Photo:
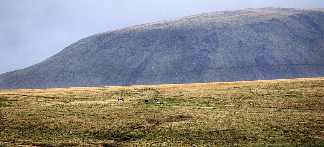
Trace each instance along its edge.
<path fill-rule="evenodd" d="M 0 89 L 324 77 L 324 9 L 249 8 L 130 26 L 83 38 Z"/>

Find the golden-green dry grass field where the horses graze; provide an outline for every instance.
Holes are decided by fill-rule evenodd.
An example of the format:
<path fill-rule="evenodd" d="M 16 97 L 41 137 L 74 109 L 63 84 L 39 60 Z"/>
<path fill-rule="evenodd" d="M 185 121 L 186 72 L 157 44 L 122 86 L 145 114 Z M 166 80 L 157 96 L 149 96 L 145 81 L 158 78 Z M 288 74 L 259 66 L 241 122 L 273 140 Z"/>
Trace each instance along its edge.
<path fill-rule="evenodd" d="M 0 146 L 324 146 L 324 78 L 0 90 Z"/>

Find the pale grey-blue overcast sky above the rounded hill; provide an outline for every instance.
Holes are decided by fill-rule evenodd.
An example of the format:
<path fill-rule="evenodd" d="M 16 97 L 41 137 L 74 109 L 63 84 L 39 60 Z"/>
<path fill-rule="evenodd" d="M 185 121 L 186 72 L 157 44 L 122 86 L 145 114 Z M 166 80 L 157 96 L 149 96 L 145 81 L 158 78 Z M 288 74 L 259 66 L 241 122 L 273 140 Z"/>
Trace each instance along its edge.
<path fill-rule="evenodd" d="M 127 26 L 256 7 L 324 8 L 323 0 L 0 0 L 0 74 Z"/>

